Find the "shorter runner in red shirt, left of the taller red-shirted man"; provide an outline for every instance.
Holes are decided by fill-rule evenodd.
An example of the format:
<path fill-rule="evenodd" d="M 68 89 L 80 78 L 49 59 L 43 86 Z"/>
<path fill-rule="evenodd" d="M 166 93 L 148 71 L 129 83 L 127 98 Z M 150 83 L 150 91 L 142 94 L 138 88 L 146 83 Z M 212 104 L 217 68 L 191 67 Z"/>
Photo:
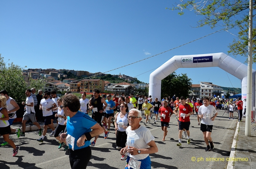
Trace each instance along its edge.
<path fill-rule="evenodd" d="M 167 127 L 169 126 L 170 116 L 173 114 L 173 110 L 167 107 L 167 101 L 163 100 L 163 106 L 159 108 L 159 117 L 161 118 L 161 127 L 163 130 L 163 139 L 165 141 L 165 136 L 167 135 Z"/>

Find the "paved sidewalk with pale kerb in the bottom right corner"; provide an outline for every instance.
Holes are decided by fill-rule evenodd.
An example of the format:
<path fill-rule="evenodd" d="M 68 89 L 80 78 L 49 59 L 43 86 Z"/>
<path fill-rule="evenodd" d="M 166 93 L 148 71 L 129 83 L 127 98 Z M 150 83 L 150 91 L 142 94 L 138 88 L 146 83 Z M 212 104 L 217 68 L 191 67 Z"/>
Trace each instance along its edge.
<path fill-rule="evenodd" d="M 255 123 L 251 128 L 256 126 Z M 245 136 L 245 119 L 237 123 L 231 147 L 227 169 L 255 169 L 256 168 L 256 130 L 251 130 L 251 137 Z"/>

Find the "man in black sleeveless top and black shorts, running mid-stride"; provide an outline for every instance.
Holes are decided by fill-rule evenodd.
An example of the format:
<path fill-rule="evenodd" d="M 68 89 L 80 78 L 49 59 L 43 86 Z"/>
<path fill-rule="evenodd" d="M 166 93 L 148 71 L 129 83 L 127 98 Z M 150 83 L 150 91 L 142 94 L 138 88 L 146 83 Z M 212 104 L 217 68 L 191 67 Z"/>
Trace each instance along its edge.
<path fill-rule="evenodd" d="M 93 90 L 93 96 L 90 100 L 89 100 L 89 108 L 90 110 L 93 110 L 93 115 L 94 115 L 94 120 L 103 128 L 104 130 L 104 139 L 108 138 L 109 135 L 109 131 L 106 131 L 105 127 L 102 126 L 102 120 L 104 119 L 104 114 L 103 111 L 106 110 L 108 104 L 106 103 L 105 99 L 103 99 L 102 97 L 99 96 L 99 89 L 94 89 Z M 104 107 L 103 107 L 103 103 L 104 103 Z M 93 142 L 91 142 L 91 146 L 95 146 L 95 143 L 98 139 L 98 135 L 95 136 L 95 139 Z"/>

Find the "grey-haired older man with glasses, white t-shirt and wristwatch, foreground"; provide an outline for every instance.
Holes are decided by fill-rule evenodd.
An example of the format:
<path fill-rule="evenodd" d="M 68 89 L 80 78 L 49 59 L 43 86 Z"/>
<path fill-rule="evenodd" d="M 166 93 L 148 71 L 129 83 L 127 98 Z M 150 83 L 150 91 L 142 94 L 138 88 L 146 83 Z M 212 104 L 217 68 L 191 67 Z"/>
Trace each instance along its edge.
<path fill-rule="evenodd" d="M 140 168 L 151 168 L 149 154 L 158 152 L 155 138 L 148 128 L 140 125 L 141 116 L 141 112 L 135 108 L 131 109 L 127 116 L 127 146 L 120 150 L 121 160 L 125 160 L 128 155 L 125 169 L 136 168 L 135 164 L 140 165 Z"/>

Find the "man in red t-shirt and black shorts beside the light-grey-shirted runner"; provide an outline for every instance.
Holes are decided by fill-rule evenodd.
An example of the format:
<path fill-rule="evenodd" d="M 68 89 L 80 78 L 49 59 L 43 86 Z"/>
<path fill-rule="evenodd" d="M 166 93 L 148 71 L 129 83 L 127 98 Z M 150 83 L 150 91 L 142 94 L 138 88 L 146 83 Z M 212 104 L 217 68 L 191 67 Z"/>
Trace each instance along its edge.
<path fill-rule="evenodd" d="M 180 97 L 180 101 L 181 101 L 181 104 L 178 105 L 180 118 L 179 118 L 179 142 L 177 143 L 177 146 L 181 146 L 183 128 L 185 128 L 187 131 L 187 135 L 188 135 L 187 143 L 190 144 L 190 139 L 189 139 L 190 119 L 189 119 L 189 116 L 193 114 L 191 106 L 186 103 L 186 99 L 183 96 Z"/>

